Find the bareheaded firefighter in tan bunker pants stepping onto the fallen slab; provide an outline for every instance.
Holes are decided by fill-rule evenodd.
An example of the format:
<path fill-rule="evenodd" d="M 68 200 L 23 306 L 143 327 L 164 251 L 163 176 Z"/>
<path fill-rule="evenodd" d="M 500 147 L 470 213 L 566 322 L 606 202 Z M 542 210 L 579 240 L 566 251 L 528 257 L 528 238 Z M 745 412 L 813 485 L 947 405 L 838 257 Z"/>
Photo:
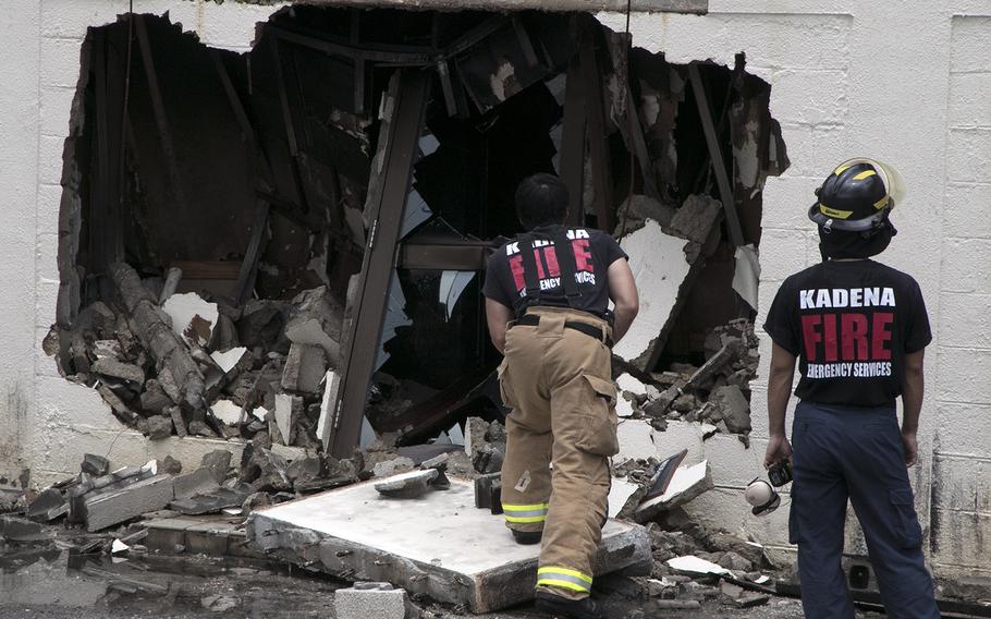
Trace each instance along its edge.
<path fill-rule="evenodd" d="M 591 600 L 616 441 L 610 347 L 636 316 L 626 254 L 599 230 L 565 228 L 567 190 L 525 179 L 516 214 L 528 230 L 489 259 L 482 293 L 506 418 L 502 508 L 521 544 L 543 541 L 537 607 L 603 617 Z M 615 304 L 610 324 L 609 300 Z M 549 465 L 553 463 L 553 472 Z"/>

